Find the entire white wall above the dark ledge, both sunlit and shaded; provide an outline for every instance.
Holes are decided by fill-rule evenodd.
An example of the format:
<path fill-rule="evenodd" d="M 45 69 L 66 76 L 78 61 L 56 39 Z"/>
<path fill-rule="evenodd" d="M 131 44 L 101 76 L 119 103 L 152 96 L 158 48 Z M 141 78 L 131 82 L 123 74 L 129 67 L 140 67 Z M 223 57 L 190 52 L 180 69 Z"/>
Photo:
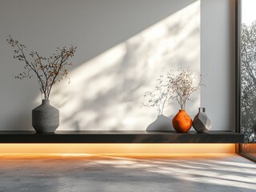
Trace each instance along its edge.
<path fill-rule="evenodd" d="M 78 46 L 71 84 L 56 84 L 51 94 L 61 112 L 59 130 L 144 130 L 156 112 L 140 108 L 141 94 L 164 71 L 187 65 L 208 74 L 201 103 L 213 130 L 232 130 L 234 5 L 201 1 L 201 31 L 197 5 L 194 0 L 2 0 L 0 130 L 32 130 L 30 111 L 40 102 L 35 81 L 14 79 L 21 67 L 6 43 L 8 34 L 46 55 L 56 46 Z M 187 107 L 192 117 L 199 92 L 193 98 Z M 177 109 L 169 105 L 165 115 L 172 117 Z"/>

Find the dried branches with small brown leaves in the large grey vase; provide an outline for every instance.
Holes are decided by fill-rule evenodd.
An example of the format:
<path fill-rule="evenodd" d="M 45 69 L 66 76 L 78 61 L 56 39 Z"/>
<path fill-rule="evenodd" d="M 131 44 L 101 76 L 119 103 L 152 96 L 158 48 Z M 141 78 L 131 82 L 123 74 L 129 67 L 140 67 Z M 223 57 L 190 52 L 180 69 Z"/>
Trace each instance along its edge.
<path fill-rule="evenodd" d="M 56 81 L 61 81 L 67 76 L 67 66 L 71 66 L 71 62 L 67 62 L 75 54 L 76 46 L 70 46 L 68 49 L 64 46 L 62 49 L 57 47 L 56 53 L 45 58 L 39 55 L 38 52 L 30 52 L 30 60 L 26 57 L 24 49 L 26 46 L 19 44 L 17 40 L 9 38 L 6 40 L 11 46 L 14 46 L 14 58 L 24 62 L 24 70 L 22 73 L 15 76 L 15 78 L 31 78 L 34 72 L 39 81 L 39 90 L 43 95 L 43 99 L 49 99 L 51 88 Z"/>

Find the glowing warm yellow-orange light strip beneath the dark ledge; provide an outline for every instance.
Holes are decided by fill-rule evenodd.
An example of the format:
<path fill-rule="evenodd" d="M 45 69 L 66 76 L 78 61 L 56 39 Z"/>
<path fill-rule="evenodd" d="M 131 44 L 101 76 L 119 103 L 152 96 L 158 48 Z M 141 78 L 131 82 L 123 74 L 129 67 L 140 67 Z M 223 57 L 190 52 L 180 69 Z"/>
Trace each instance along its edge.
<path fill-rule="evenodd" d="M 0 144 L 0 154 L 234 154 L 235 144 Z"/>

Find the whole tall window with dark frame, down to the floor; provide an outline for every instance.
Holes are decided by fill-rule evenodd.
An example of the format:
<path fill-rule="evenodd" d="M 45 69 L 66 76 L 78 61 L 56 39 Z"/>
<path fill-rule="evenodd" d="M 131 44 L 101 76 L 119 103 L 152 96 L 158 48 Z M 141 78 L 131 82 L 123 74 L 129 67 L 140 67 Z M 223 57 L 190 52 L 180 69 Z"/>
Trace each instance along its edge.
<path fill-rule="evenodd" d="M 256 1 L 237 0 L 239 152 L 256 160 Z"/>

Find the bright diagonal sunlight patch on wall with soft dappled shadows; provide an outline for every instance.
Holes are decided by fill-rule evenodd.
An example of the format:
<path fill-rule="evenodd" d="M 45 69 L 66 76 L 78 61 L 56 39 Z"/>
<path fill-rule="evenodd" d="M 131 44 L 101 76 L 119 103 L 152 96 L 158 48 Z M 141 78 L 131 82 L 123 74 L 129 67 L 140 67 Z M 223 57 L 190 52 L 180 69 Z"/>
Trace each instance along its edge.
<path fill-rule="evenodd" d="M 185 66 L 200 74 L 199 1 L 71 70 L 71 84 L 56 84 L 51 95 L 59 130 L 145 130 L 156 109 L 141 107 L 144 92 L 161 74 Z M 191 117 L 200 92 L 193 98 L 186 108 Z M 172 118 L 178 109 L 169 104 L 164 114 Z"/>

